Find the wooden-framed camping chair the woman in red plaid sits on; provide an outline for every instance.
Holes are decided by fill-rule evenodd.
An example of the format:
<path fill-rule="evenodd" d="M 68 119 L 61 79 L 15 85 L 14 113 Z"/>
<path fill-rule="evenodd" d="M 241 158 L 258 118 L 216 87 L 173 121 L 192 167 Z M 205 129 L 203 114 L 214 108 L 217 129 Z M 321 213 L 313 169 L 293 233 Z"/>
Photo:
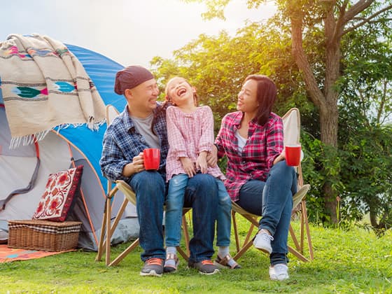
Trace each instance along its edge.
<path fill-rule="evenodd" d="M 284 143 L 285 145 L 290 143 L 299 143 L 300 142 L 300 111 L 298 109 L 290 109 L 284 116 L 283 116 L 283 133 L 284 133 Z M 311 236 L 309 231 L 309 223 L 307 219 L 307 208 L 306 208 L 306 201 L 305 196 L 310 188 L 310 185 L 304 185 L 302 180 L 302 169 L 301 165 L 296 167 L 297 174 L 298 174 L 298 191 L 293 195 L 293 211 L 292 216 L 296 214 L 300 214 L 300 242 L 295 235 L 295 231 L 293 230 L 292 225 L 290 224 L 289 232 L 291 239 L 293 239 L 293 243 L 295 248 L 292 246 L 288 246 L 288 251 L 293 253 L 297 258 L 302 261 L 309 261 L 313 260 L 313 247 L 311 245 Z M 243 244 L 240 244 L 239 241 L 239 233 L 237 228 L 237 221 L 236 221 L 236 214 L 240 214 L 244 218 L 246 218 L 250 223 L 251 227 L 248 229 L 248 233 L 244 239 Z M 235 235 L 235 244 L 236 244 L 236 254 L 233 257 L 235 260 L 241 257 L 248 248 L 250 248 L 253 244 L 253 229 L 258 228 L 258 218 L 260 216 L 256 216 L 255 214 L 251 214 L 248 211 L 242 209 L 238 204 L 232 202 L 232 221 L 233 221 L 233 228 L 234 228 L 234 235 Z M 304 233 L 306 231 L 307 235 L 307 247 L 309 250 L 309 258 L 304 256 Z"/>

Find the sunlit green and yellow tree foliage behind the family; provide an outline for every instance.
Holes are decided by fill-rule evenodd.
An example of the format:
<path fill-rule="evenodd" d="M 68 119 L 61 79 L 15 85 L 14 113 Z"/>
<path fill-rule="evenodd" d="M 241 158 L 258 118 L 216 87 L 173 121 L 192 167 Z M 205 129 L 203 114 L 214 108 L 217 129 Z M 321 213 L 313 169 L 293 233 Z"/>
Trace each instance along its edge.
<path fill-rule="evenodd" d="M 227 1 L 207 2 L 218 7 L 218 3 Z M 248 1 L 250 7 L 261 2 Z M 283 116 L 291 107 L 301 112 L 305 153 L 302 170 L 304 182 L 311 184 L 307 198 L 310 220 L 331 223 L 323 195 L 327 183 L 336 194 L 339 224 L 358 222 L 369 214 L 370 225 L 382 234 L 392 225 L 391 8 L 377 21 L 364 23 L 342 37 L 340 78 L 334 85 L 339 93 L 338 141 L 334 147 L 321 140 L 319 109 L 309 97 L 292 54 L 289 2 L 276 1 L 279 13 L 268 22 L 248 22 L 235 36 L 225 31 L 217 36 L 202 34 L 176 50 L 173 59 L 155 57 L 151 67 L 162 90 L 172 76 L 187 78 L 197 88 L 201 104 L 211 106 L 216 132 L 225 113 L 236 110 L 237 93 L 244 78 L 251 73 L 271 77 L 279 88 L 274 112 Z M 343 5 L 342 1 L 332 2 L 337 7 Z M 348 7 L 354 5 L 351 2 L 355 1 L 344 1 Z M 358 20 L 391 4 L 371 2 Z M 325 7 L 311 1 L 295 3 L 299 7 L 296 9 L 309 9 L 304 12 L 303 47 L 323 90 L 328 52 L 322 25 Z M 214 15 L 216 11 L 209 13 Z M 221 167 L 224 169 L 224 162 Z"/>

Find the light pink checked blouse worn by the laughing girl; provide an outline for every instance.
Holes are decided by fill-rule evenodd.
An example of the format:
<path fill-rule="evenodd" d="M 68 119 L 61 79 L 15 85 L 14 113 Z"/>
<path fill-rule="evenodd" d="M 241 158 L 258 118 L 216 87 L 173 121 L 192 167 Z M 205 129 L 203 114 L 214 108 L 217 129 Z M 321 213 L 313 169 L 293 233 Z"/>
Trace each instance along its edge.
<path fill-rule="evenodd" d="M 166 111 L 166 121 L 169 140 L 166 179 L 169 181 L 175 174 L 186 174 L 179 158 L 190 158 L 196 162 L 200 152 L 211 152 L 214 145 L 214 116 L 209 106 L 197 107 L 193 113 L 170 106 Z M 209 167 L 207 173 L 225 179 L 218 165 Z"/>

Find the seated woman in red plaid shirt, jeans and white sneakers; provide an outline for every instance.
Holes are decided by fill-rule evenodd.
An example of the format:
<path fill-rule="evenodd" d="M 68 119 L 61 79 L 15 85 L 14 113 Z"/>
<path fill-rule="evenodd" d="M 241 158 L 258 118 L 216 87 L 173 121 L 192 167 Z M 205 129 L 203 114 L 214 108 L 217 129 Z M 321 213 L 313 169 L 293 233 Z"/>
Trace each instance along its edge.
<path fill-rule="evenodd" d="M 267 76 L 246 77 L 237 110 L 222 120 L 218 157 L 227 155 L 225 186 L 233 201 L 262 216 L 253 246 L 269 254 L 269 277 L 288 279 L 288 228 L 297 177 L 286 165 L 283 121 L 272 106 L 276 85 Z"/>

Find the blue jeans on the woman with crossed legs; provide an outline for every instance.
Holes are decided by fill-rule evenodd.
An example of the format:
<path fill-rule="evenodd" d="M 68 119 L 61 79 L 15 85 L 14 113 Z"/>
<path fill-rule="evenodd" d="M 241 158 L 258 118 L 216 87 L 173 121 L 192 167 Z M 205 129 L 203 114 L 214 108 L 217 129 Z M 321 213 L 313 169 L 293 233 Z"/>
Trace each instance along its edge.
<path fill-rule="evenodd" d="M 269 171 L 267 181 L 250 180 L 241 187 L 237 204 L 252 214 L 262 216 L 259 229 L 268 230 L 271 242 L 271 265 L 288 262 L 288 228 L 293 195 L 297 192 L 295 169 L 286 161 L 277 162 Z"/>

